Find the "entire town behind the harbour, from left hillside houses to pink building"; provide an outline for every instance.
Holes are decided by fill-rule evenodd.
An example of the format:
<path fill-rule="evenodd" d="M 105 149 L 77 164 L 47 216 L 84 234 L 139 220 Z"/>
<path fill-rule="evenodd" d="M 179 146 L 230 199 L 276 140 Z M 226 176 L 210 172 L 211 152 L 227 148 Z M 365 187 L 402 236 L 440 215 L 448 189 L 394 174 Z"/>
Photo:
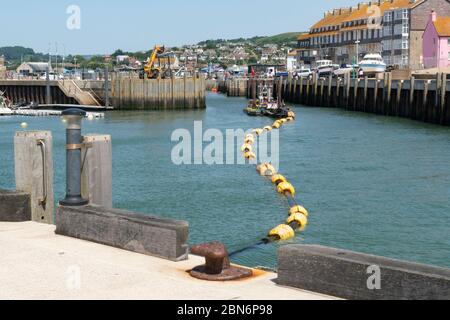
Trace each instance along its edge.
<path fill-rule="evenodd" d="M 442 0 L 379 0 L 326 11 L 306 32 L 207 40 L 181 47 L 149 43 L 149 50 L 99 55 L 65 55 L 53 43 L 47 53 L 24 47 L 0 48 L 0 79 L 23 77 L 76 79 L 101 70 L 143 73 L 149 77 L 261 76 L 345 77 L 351 74 L 409 79 L 422 73 L 450 72 L 450 3 Z M 151 49 L 154 46 L 154 49 Z M 153 55 L 153 53 L 155 53 Z M 151 57 L 153 56 L 153 59 Z M 150 60 L 151 63 L 149 63 Z M 54 79 L 53 79 L 54 80 Z"/>

